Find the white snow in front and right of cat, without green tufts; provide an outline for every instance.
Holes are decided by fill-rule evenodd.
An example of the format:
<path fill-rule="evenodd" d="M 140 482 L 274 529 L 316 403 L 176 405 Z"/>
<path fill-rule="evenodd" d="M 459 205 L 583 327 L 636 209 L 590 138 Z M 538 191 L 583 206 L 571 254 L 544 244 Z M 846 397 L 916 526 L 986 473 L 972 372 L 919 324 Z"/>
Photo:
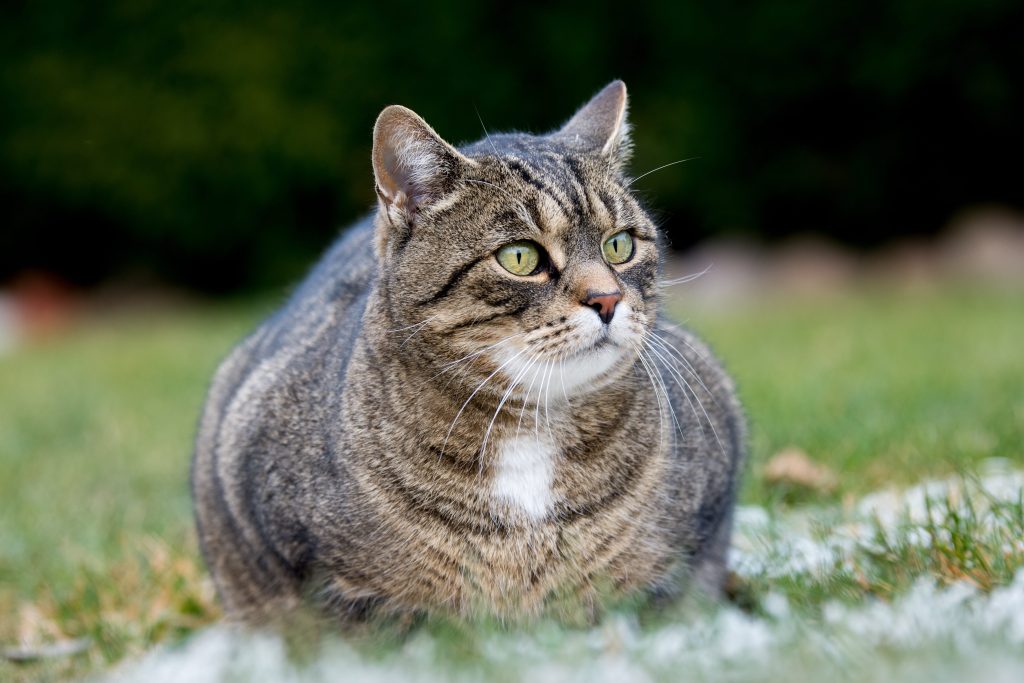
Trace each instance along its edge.
<path fill-rule="evenodd" d="M 759 507 L 736 515 L 733 568 L 740 574 L 782 578 L 833 570 L 870 548 L 881 526 L 906 532 L 935 507 L 970 496 L 984 506 L 1019 501 L 1024 472 L 993 463 L 976 479 L 933 481 L 902 493 L 868 496 L 844 515 L 839 510 L 773 516 Z M 987 503 L 986 503 L 987 502 Z M 999 523 L 992 516 L 986 523 Z M 226 626 L 207 629 L 179 646 L 164 646 L 128 663 L 105 680 L 289 681 L 820 681 L 898 680 L 901 683 L 983 680 L 1017 683 L 1024 671 L 1024 568 L 990 593 L 967 583 L 939 587 L 929 578 L 891 602 L 834 601 L 817 616 L 802 615 L 776 593 L 757 614 L 726 605 L 658 628 L 628 614 L 600 626 L 569 630 L 482 633 L 469 666 L 445 664 L 444 643 L 420 632 L 388 656 L 360 652 L 343 640 L 326 643 L 311 661 L 288 656 L 281 638 Z M 447 646 L 451 649 L 451 646 Z M 465 653 L 463 653 L 465 657 Z"/>

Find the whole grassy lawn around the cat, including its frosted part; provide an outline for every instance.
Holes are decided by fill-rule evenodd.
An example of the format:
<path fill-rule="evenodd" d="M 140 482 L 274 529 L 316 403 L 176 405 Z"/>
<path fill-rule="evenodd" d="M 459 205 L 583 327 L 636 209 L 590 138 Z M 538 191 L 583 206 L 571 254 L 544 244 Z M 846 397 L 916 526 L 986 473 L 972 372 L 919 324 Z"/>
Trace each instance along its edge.
<path fill-rule="evenodd" d="M 196 635 L 182 651 L 210 657 L 231 638 L 243 639 L 231 641 L 236 647 L 256 639 L 252 651 L 264 658 L 283 647 L 270 636 L 207 627 L 218 611 L 198 560 L 186 486 L 206 384 L 268 309 L 265 301 L 242 302 L 96 319 L 0 356 L 0 645 L 89 639 L 72 656 L 0 659 L 0 680 L 99 672 L 187 634 Z M 1024 470 L 1024 296 L 879 288 L 709 310 L 688 307 L 682 291 L 670 309 L 724 358 L 750 416 L 734 558 L 742 608 L 678 624 L 637 625 L 620 614 L 579 633 L 433 625 L 402 644 L 335 643 L 310 680 L 326 680 L 335 665 L 387 680 L 381 672 L 394 673 L 396 663 L 418 678 L 422 665 L 511 679 L 524 657 L 547 667 L 552 680 L 559 663 L 573 661 L 604 663 L 608 680 L 641 670 L 647 679 L 671 678 L 683 664 L 694 678 L 725 667 L 734 680 L 790 680 L 800 676 L 778 671 L 793 671 L 795 657 L 835 663 L 850 647 L 887 661 L 882 678 L 900 678 L 919 650 L 943 653 L 930 654 L 929 667 L 945 663 L 941 645 L 956 637 L 942 632 L 910 646 L 871 630 L 905 618 L 899 610 L 918 602 L 947 605 L 935 618 L 980 634 L 975 651 L 986 666 L 1024 665 L 1007 649 L 1024 644 L 1024 621 L 990 615 L 1024 600 L 1024 511 L 1019 485 L 1016 499 L 1005 485 Z M 802 489 L 766 480 L 765 463 L 790 446 L 827 467 L 837 484 Z M 933 487 L 912 488 L 923 481 Z M 886 507 L 879 492 L 889 489 L 909 492 Z M 1011 627 L 1019 641 L 1000 640 Z M 837 642 L 857 645 L 836 654 Z M 787 658 L 772 659 L 778 648 Z M 612 650 L 618 658 L 602 658 Z M 389 659 L 397 651 L 400 659 Z M 761 652 L 774 664 L 743 670 L 736 663 L 752 652 L 748 658 Z M 166 675 L 165 656 L 147 661 Z M 638 659 L 643 666 L 630 669 Z M 264 663 L 267 680 L 282 660 Z M 943 671 L 956 666 L 966 665 Z M 244 679 L 248 670 L 206 671 L 213 678 L 204 680 L 217 680 L 217 672 Z M 914 671 L 927 678 L 932 669 Z M 158 679 L 152 671 L 137 678 Z"/>

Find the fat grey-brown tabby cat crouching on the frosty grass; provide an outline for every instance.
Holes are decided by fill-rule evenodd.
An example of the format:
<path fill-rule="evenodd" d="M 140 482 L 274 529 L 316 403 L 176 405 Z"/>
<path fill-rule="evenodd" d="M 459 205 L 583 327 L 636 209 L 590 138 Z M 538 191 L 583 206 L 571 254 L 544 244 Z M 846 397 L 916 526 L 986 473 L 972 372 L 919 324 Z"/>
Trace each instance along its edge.
<path fill-rule="evenodd" d="M 386 108 L 378 207 L 216 373 L 193 462 L 228 615 L 596 618 L 723 588 L 744 424 L 658 313 L 615 81 L 461 148 Z"/>

